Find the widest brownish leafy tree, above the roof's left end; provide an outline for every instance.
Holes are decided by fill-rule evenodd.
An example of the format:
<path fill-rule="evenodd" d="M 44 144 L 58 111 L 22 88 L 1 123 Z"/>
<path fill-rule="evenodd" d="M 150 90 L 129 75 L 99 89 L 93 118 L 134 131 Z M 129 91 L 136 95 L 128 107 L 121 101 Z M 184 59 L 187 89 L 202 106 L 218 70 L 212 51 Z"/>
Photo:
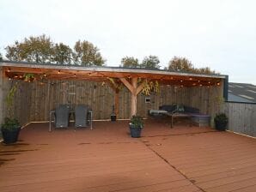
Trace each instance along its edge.
<path fill-rule="evenodd" d="M 8 45 L 5 50 L 6 57 L 10 60 L 48 63 L 53 55 L 53 44 L 52 40 L 43 34 L 25 38 L 22 42 L 15 41 L 15 45 Z"/>

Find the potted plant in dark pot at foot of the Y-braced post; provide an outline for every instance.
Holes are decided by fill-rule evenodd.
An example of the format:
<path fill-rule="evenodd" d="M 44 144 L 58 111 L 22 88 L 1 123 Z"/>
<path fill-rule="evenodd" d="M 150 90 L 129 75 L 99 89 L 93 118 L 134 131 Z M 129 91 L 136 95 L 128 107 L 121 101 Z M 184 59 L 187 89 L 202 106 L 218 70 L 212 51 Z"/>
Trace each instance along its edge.
<path fill-rule="evenodd" d="M 138 138 L 141 135 L 143 129 L 143 118 L 140 116 L 132 116 L 129 123 L 131 137 Z"/>

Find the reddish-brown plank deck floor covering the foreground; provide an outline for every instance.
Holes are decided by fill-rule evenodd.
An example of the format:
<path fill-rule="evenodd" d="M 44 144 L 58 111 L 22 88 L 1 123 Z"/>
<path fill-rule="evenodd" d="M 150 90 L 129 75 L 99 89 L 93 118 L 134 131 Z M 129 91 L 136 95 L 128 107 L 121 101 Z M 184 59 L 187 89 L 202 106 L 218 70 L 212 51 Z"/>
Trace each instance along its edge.
<path fill-rule="evenodd" d="M 256 191 L 254 139 L 162 120 L 134 139 L 127 124 L 28 125 L 0 145 L 0 191 Z"/>

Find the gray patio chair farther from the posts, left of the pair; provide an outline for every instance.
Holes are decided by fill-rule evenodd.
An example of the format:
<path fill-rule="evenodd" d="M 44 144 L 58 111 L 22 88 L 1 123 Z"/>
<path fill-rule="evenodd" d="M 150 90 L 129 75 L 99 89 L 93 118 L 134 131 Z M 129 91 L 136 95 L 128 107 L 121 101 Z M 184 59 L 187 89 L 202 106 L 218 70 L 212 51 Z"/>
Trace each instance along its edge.
<path fill-rule="evenodd" d="M 55 110 L 55 127 L 67 128 L 69 127 L 69 113 L 68 105 L 59 105 Z"/>

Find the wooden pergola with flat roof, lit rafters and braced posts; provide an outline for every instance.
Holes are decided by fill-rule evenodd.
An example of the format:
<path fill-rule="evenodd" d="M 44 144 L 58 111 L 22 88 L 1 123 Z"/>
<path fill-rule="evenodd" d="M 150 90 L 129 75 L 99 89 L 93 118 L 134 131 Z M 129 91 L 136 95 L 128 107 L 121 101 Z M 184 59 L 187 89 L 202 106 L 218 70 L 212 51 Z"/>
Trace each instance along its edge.
<path fill-rule="evenodd" d="M 119 85 L 124 84 L 131 92 L 131 116 L 137 114 L 137 94 L 143 89 L 145 81 L 157 81 L 160 85 L 178 87 L 220 86 L 225 75 L 198 75 L 171 72 L 160 69 L 125 69 L 119 67 L 81 67 L 51 63 L 0 62 L 3 74 L 22 81 L 79 80 L 102 81 L 113 88 L 115 93 L 115 112 L 119 113 Z M 31 79 L 25 78 L 33 74 Z"/>

